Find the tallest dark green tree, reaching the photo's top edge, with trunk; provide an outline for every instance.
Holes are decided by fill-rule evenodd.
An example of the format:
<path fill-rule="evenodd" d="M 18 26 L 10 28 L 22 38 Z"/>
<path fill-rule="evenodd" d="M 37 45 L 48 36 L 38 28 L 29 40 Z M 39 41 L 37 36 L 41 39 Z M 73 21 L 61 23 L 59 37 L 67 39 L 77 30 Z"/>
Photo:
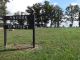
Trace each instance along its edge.
<path fill-rule="evenodd" d="M 53 5 L 50 5 L 50 3 L 48 1 L 45 1 L 44 2 L 44 5 L 43 5 L 43 14 L 44 14 L 44 18 L 43 18 L 43 21 L 45 23 L 45 26 L 46 26 L 46 23 L 51 20 L 53 20 Z M 52 24 L 51 24 L 52 25 Z"/>

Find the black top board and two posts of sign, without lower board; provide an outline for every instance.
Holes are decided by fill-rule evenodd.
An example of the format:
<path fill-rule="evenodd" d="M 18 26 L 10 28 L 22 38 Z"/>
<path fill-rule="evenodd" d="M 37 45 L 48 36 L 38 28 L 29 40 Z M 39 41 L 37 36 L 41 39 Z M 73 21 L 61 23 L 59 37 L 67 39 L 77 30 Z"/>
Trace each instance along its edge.
<path fill-rule="evenodd" d="M 3 22 L 4 22 L 4 48 L 6 48 L 7 45 L 7 29 L 5 28 L 6 26 L 6 21 L 7 20 L 25 20 L 27 18 L 30 18 L 33 20 L 33 48 L 35 48 L 35 15 L 17 15 L 17 16 L 2 16 Z"/>

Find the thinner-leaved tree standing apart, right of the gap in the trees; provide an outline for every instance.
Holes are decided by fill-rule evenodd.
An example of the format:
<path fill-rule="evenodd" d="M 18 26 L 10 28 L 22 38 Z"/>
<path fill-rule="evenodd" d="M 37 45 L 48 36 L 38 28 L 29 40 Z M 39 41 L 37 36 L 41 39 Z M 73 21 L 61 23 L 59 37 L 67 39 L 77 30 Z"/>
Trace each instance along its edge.
<path fill-rule="evenodd" d="M 78 5 L 69 5 L 67 8 L 66 8 L 66 14 L 68 16 L 71 16 L 71 27 L 73 25 L 73 21 L 74 21 L 74 15 L 79 12 L 79 6 Z"/>

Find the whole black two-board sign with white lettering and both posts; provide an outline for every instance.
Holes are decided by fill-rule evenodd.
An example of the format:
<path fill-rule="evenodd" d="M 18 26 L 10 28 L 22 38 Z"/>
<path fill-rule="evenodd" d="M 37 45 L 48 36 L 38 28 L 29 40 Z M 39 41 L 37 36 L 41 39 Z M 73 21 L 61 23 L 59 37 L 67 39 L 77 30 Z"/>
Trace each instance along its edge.
<path fill-rule="evenodd" d="M 33 48 L 35 48 L 35 15 L 13 15 L 13 16 L 2 16 L 4 22 L 4 48 L 6 48 L 7 42 L 7 29 L 32 29 L 33 31 Z M 7 24 L 6 21 L 18 21 L 19 24 Z M 29 24 L 24 25 L 24 21 L 27 21 Z"/>

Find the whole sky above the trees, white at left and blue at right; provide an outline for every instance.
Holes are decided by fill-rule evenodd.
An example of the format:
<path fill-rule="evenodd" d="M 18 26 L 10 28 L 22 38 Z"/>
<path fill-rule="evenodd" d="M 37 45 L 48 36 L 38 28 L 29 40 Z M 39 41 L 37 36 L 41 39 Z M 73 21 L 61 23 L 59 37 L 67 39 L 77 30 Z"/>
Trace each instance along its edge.
<path fill-rule="evenodd" d="M 43 3 L 45 0 L 10 0 L 7 3 L 7 10 L 10 11 L 11 14 L 22 11 L 24 12 L 27 9 L 27 6 L 32 6 L 35 3 L 41 2 Z M 69 4 L 80 4 L 80 0 L 48 0 L 50 4 L 59 5 L 63 10 Z"/>

